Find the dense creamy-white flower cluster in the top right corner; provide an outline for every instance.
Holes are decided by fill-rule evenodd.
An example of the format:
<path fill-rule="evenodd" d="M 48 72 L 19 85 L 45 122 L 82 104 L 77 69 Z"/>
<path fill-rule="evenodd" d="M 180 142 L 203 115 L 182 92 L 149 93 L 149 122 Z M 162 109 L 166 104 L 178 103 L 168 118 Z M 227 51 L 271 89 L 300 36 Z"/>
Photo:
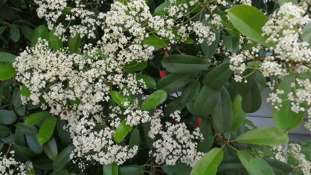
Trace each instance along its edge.
<path fill-rule="evenodd" d="M 262 27 L 262 35 L 268 36 L 266 42 L 275 44 L 270 50 L 279 54 L 281 60 L 290 63 L 311 61 L 310 44 L 299 40 L 302 27 L 311 21 L 309 16 L 304 15 L 301 7 L 285 3 Z"/>

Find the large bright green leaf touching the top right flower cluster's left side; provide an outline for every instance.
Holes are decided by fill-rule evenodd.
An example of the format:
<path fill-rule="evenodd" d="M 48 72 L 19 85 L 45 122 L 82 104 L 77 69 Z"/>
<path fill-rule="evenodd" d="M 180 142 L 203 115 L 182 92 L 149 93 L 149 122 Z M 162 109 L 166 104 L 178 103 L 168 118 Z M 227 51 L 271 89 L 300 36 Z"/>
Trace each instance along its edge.
<path fill-rule="evenodd" d="M 228 11 L 228 17 L 243 35 L 267 47 L 274 46 L 272 43 L 266 43 L 267 36 L 262 36 L 261 28 L 269 18 L 256 7 L 245 4 L 236 5 Z"/>

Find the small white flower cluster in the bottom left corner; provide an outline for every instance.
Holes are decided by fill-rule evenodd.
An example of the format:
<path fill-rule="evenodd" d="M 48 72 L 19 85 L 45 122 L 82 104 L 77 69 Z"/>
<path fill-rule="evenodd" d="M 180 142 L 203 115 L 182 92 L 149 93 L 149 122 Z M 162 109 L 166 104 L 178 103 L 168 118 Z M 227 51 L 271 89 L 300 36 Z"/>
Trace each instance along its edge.
<path fill-rule="evenodd" d="M 10 152 L 11 157 L 0 153 L 0 174 L 1 175 L 27 175 L 26 165 L 14 159 L 14 151 Z"/>

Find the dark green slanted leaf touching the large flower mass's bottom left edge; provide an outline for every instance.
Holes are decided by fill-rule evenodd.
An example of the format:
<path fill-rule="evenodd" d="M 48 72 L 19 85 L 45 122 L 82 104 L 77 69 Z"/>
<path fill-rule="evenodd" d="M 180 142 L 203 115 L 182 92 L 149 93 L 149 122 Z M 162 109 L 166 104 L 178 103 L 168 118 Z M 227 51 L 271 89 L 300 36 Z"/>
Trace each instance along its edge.
<path fill-rule="evenodd" d="M 70 154 L 73 150 L 74 146 L 69 145 L 59 153 L 52 164 L 54 171 L 61 170 L 70 161 Z"/>

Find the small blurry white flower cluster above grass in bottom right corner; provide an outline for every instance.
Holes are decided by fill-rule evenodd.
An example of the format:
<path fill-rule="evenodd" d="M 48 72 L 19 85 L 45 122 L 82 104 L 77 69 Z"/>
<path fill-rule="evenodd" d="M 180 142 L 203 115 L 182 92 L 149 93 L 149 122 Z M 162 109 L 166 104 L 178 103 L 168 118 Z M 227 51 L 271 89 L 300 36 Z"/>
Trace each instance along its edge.
<path fill-rule="evenodd" d="M 292 158 L 295 161 L 291 162 L 294 164 L 294 169 L 301 170 L 304 175 L 311 175 L 311 162 L 306 160 L 306 156 L 301 153 L 301 146 L 299 144 L 290 143 L 288 145 L 287 158 L 283 156 L 281 145 L 272 146 L 272 151 L 274 152 L 272 158 L 286 163 L 288 162 L 288 158 Z"/>

